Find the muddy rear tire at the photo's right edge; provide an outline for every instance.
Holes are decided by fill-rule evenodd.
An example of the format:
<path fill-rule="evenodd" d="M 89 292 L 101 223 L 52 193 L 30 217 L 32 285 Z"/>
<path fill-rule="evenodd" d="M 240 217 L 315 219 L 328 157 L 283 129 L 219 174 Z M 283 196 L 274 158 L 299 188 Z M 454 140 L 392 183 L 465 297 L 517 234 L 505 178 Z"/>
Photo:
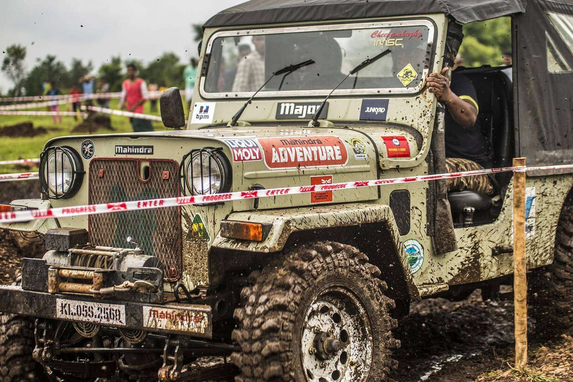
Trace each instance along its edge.
<path fill-rule="evenodd" d="M 554 262 L 533 273 L 531 282 L 533 314 L 539 327 L 573 321 L 573 206 L 559 216 L 555 233 Z"/>

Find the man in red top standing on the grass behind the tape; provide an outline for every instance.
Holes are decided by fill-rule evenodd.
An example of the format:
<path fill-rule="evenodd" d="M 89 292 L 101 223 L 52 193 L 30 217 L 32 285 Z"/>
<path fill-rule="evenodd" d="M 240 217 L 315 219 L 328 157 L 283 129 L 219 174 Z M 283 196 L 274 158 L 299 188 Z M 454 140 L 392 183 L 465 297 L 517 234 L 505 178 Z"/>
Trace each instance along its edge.
<path fill-rule="evenodd" d="M 134 64 L 127 65 L 127 80 L 121 84 L 121 96 L 119 108 L 127 109 L 133 113 L 143 113 L 143 104 L 149 98 L 147 84 L 142 78 L 137 77 L 138 69 Z M 134 132 L 153 131 L 150 120 L 130 117 L 131 127 Z"/>

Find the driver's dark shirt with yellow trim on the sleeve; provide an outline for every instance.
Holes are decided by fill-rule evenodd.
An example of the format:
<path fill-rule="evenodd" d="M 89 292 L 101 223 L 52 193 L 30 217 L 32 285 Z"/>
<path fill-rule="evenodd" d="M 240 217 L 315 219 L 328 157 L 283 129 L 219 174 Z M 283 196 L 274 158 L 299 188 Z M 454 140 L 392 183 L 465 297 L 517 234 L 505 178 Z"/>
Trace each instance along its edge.
<path fill-rule="evenodd" d="M 464 74 L 452 73 L 450 89 L 462 100 L 472 103 L 477 111 L 476 88 Z M 468 107 L 470 107 L 468 105 Z M 446 111 L 446 157 L 464 158 L 481 164 L 484 168 L 493 167 L 493 150 L 491 144 L 485 139 L 480 124 L 476 121 L 472 127 L 461 127 L 448 111 Z"/>

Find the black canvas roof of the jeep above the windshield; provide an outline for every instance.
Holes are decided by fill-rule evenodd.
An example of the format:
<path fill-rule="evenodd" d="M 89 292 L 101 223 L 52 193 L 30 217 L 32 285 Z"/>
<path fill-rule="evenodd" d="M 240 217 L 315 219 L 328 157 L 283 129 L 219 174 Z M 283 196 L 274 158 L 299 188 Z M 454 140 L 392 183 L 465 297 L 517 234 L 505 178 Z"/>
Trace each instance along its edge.
<path fill-rule="evenodd" d="M 468 23 L 524 12 L 525 2 L 526 0 L 250 0 L 215 14 L 203 26 L 261 25 L 425 13 L 444 13 L 460 23 Z"/>

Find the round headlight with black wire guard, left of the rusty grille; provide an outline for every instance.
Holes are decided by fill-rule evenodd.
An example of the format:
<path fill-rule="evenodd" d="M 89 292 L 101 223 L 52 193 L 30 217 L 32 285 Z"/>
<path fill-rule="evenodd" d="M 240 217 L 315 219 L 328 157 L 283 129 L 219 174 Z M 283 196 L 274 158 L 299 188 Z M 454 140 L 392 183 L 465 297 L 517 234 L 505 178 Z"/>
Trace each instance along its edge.
<path fill-rule="evenodd" d="M 48 147 L 40 154 L 40 190 L 50 199 L 71 198 L 84 174 L 84 164 L 72 147 Z"/>

